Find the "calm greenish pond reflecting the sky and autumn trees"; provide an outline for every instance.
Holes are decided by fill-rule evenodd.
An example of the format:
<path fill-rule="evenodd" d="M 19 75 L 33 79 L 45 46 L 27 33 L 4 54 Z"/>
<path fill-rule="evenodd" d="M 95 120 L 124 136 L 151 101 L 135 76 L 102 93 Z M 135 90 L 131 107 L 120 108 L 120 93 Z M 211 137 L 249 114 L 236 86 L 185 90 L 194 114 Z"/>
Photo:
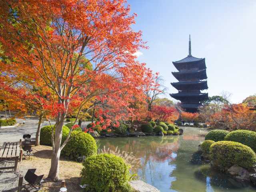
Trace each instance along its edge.
<path fill-rule="evenodd" d="M 141 159 L 140 180 L 161 192 L 252 192 L 255 187 L 240 183 L 202 164 L 195 152 L 207 131 L 185 127 L 182 136 L 100 138 L 98 148 L 133 152 Z"/>

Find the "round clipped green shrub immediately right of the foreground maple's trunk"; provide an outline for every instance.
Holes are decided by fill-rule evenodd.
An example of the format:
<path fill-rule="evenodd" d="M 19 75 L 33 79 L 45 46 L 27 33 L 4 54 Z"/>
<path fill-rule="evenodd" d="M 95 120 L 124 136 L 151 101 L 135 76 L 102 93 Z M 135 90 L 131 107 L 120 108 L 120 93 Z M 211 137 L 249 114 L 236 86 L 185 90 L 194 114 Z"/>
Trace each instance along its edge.
<path fill-rule="evenodd" d="M 97 154 L 96 141 L 88 133 L 74 131 L 61 152 L 64 156 L 74 160 L 80 156 L 89 157 Z"/>

